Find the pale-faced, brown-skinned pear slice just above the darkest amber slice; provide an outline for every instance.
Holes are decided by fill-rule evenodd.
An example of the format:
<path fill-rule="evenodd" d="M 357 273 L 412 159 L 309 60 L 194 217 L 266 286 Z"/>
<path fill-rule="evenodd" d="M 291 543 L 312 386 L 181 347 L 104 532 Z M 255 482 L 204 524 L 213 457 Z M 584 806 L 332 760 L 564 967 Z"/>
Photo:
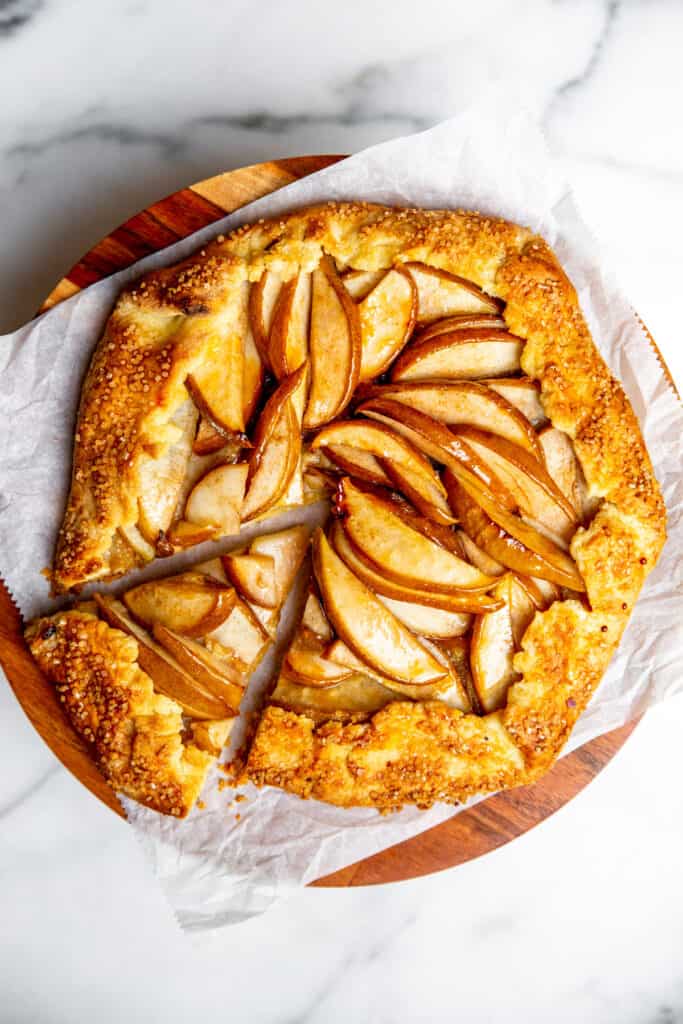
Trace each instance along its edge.
<path fill-rule="evenodd" d="M 496 434 L 471 427 L 455 433 L 488 463 L 521 512 L 568 547 L 579 524 L 577 513 L 545 466 L 520 445 Z"/>

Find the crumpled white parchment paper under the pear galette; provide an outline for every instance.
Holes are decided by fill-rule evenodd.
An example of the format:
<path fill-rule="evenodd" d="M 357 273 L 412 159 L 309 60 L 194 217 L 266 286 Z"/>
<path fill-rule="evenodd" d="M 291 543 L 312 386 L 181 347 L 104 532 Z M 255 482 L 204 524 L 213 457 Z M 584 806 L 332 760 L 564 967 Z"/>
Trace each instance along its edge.
<path fill-rule="evenodd" d="M 427 132 L 374 146 L 244 207 L 0 339 L 0 567 L 25 615 L 50 606 L 39 573 L 51 560 L 63 508 L 81 379 L 121 287 L 176 262 L 220 231 L 340 199 L 473 208 L 529 225 L 558 253 L 596 343 L 640 419 L 670 516 L 661 560 L 567 751 L 680 690 L 683 413 L 633 310 L 605 273 L 540 130 L 501 94 Z M 271 521 L 267 528 L 273 526 Z M 206 546 L 184 561 L 187 557 L 206 557 Z M 151 571 L 166 573 L 177 564 L 178 559 L 169 560 Z M 276 652 L 261 667 L 252 702 L 275 657 Z M 370 810 L 342 811 L 253 787 L 244 791 L 245 802 L 231 804 L 234 795 L 220 788 L 220 779 L 225 776 L 216 771 L 203 795 L 205 809 L 185 821 L 126 802 L 180 925 L 193 931 L 262 912 L 285 887 L 303 885 L 457 813 L 437 806 L 382 818 Z"/>

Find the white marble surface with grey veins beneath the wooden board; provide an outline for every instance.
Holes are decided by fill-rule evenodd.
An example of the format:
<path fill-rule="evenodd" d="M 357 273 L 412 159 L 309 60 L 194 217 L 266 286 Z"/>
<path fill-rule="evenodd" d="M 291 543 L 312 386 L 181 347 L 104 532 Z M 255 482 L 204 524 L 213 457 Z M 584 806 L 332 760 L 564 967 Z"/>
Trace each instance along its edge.
<path fill-rule="evenodd" d="M 426 127 L 502 81 L 683 383 L 682 42 L 680 0 L 0 0 L 0 331 L 162 195 Z M 479 861 L 293 893 L 197 948 L 0 687 L 0 1024 L 683 1021 L 682 729 L 680 699 L 650 713 Z"/>

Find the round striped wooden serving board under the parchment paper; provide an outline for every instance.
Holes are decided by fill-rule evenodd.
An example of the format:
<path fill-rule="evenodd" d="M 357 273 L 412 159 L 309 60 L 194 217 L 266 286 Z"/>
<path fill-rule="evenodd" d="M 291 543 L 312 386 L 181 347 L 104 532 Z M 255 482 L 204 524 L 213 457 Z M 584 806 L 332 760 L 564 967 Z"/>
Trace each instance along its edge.
<path fill-rule="evenodd" d="M 41 312 L 142 256 L 171 245 L 226 213 L 341 160 L 297 157 L 255 164 L 183 188 L 127 220 L 72 267 Z M 666 367 L 663 368 L 666 371 Z M 673 383 L 673 382 L 672 382 Z M 29 654 L 22 617 L 0 581 L 0 664 L 29 719 L 61 763 L 117 814 L 123 809 L 67 722 L 53 687 Z M 345 867 L 315 886 L 398 882 L 453 867 L 509 843 L 545 820 L 594 778 L 626 742 L 636 722 L 563 758 L 541 781 L 499 794 L 391 849 Z"/>

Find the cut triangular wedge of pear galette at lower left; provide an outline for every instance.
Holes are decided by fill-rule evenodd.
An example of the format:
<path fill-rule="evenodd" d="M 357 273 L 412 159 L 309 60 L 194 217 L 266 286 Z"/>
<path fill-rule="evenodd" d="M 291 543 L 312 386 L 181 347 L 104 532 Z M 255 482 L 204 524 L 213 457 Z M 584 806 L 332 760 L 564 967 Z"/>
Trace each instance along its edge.
<path fill-rule="evenodd" d="M 303 526 L 264 535 L 244 553 L 29 625 L 33 656 L 117 792 L 188 813 L 272 643 L 308 537 Z"/>

